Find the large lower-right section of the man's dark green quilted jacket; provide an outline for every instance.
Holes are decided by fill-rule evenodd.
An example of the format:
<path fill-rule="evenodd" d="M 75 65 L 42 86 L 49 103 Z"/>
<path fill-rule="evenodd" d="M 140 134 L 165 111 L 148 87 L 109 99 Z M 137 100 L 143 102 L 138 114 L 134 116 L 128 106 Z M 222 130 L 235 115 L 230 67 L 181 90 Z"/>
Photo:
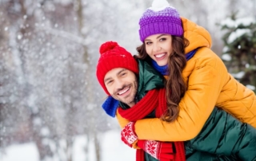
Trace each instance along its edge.
<path fill-rule="evenodd" d="M 233 160 L 246 161 L 256 160 L 255 145 L 255 128 L 249 124 L 242 124 L 217 108 L 214 108 L 202 131 L 194 139 L 186 142 L 186 148 L 216 155 L 235 155 L 237 159 Z"/>

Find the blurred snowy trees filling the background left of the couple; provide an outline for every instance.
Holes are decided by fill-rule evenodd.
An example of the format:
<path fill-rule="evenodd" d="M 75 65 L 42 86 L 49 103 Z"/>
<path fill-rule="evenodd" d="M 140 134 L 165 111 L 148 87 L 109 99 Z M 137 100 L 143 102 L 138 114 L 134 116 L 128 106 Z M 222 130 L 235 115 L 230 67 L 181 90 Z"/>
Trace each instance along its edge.
<path fill-rule="evenodd" d="M 137 38 L 123 37 L 138 25 L 126 26 L 135 16 L 125 15 L 139 2 L 0 4 L 0 153 L 12 143 L 33 142 L 40 160 L 71 161 L 74 137 L 84 135 L 84 153 L 94 143 L 100 160 L 101 133 L 114 121 L 101 108 L 106 94 L 95 76 L 98 47 L 113 40 L 135 49 L 126 41 Z"/>

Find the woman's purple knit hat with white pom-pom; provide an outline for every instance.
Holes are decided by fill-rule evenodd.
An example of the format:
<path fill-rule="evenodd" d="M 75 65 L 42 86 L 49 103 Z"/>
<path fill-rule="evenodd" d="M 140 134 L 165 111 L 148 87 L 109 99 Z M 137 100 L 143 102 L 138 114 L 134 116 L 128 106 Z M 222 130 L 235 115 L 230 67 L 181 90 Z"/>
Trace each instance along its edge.
<path fill-rule="evenodd" d="M 139 20 L 139 37 L 143 42 L 146 37 L 158 33 L 167 33 L 181 37 L 183 34 L 182 20 L 178 11 L 166 0 L 154 0 Z"/>

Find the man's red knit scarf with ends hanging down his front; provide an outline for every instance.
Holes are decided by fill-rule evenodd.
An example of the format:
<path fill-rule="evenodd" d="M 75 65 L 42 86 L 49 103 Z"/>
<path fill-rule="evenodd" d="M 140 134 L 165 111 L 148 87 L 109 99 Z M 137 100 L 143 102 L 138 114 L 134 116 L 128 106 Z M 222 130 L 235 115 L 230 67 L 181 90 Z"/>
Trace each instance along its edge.
<path fill-rule="evenodd" d="M 130 121 L 141 120 L 145 118 L 150 112 L 155 109 L 155 116 L 160 118 L 167 110 L 166 104 L 166 90 L 165 88 L 152 89 L 146 93 L 146 96 L 142 100 L 138 101 L 133 108 L 122 109 L 118 108 L 119 114 Z M 174 155 L 174 161 L 185 161 L 185 149 L 183 142 L 174 142 L 176 153 Z M 138 149 L 136 151 L 136 161 L 145 161 L 144 151 Z"/>

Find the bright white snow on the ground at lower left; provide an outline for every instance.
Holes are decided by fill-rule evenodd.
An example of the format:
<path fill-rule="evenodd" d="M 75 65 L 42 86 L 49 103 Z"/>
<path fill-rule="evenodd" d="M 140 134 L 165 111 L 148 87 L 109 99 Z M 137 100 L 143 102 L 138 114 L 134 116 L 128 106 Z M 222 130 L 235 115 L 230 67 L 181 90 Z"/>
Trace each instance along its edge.
<path fill-rule="evenodd" d="M 102 136 L 102 161 L 130 161 L 135 160 L 135 150 L 122 143 L 119 131 L 109 131 Z M 74 161 L 85 161 L 86 155 L 82 147 L 86 143 L 84 136 L 74 140 Z M 89 160 L 94 161 L 94 146 L 90 143 Z M 5 154 L 0 154 L 1 161 L 39 161 L 39 154 L 34 143 L 11 145 Z"/>

